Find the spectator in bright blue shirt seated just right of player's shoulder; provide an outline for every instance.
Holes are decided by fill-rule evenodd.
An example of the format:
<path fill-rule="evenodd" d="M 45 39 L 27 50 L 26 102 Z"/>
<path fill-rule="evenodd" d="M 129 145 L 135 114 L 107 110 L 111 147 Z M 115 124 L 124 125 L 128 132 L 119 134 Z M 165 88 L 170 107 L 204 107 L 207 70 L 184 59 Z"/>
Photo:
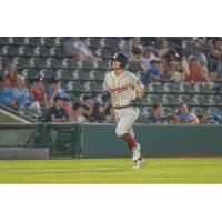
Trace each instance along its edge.
<path fill-rule="evenodd" d="M 158 60 L 151 60 L 151 68 L 147 70 L 144 74 L 142 74 L 142 83 L 149 84 L 150 82 L 157 82 L 160 79 L 160 67 Z"/>

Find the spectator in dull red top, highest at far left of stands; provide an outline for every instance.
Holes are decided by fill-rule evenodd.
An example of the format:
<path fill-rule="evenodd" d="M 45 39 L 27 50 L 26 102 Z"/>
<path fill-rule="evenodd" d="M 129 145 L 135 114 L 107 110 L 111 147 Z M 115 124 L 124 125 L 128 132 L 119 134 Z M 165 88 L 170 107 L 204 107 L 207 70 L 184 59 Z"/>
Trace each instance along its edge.
<path fill-rule="evenodd" d="M 8 88 L 16 88 L 17 87 L 17 65 L 9 64 L 6 67 L 6 84 Z"/>

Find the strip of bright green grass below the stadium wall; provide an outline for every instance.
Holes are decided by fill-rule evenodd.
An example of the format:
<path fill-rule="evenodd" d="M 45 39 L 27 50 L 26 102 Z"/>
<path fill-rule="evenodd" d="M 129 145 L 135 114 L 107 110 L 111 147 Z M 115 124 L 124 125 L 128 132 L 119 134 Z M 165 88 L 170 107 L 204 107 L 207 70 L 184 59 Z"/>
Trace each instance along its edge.
<path fill-rule="evenodd" d="M 221 172 L 220 158 L 148 159 L 138 171 L 129 159 L 0 161 L 1 184 L 214 184 Z"/>

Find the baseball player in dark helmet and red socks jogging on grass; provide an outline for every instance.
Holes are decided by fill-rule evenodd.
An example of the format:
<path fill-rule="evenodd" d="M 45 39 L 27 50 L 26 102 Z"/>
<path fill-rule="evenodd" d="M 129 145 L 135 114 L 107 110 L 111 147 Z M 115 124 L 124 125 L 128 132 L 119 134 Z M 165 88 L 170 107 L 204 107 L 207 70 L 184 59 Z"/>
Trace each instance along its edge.
<path fill-rule="evenodd" d="M 141 168 L 145 160 L 141 155 L 140 144 L 134 139 L 132 125 L 140 113 L 140 99 L 144 92 L 144 85 L 131 72 L 125 70 L 128 57 L 122 52 L 111 58 L 112 71 L 103 82 L 103 100 L 111 98 L 117 121 L 115 133 L 128 143 L 132 151 L 133 169 Z"/>

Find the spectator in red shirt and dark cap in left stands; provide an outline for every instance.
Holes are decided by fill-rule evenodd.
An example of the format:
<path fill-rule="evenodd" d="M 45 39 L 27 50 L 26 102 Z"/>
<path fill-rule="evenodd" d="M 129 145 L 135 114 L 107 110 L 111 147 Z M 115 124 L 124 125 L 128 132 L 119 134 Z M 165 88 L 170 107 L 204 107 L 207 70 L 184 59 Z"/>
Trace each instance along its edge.
<path fill-rule="evenodd" d="M 33 83 L 31 85 L 31 99 L 34 103 L 37 103 L 37 107 L 43 107 L 47 102 L 47 94 L 44 91 L 44 85 L 42 83 L 41 77 L 36 77 L 33 79 Z"/>

